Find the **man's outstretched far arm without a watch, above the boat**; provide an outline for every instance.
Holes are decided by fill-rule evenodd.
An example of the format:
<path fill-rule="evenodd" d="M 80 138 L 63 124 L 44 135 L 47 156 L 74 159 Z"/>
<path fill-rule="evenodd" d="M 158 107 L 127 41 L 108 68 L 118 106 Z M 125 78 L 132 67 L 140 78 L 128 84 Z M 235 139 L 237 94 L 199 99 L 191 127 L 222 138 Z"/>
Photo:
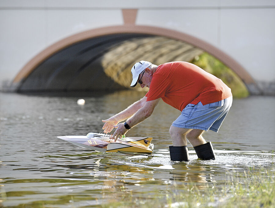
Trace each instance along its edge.
<path fill-rule="evenodd" d="M 103 125 L 102 129 L 104 133 L 109 133 L 113 130 L 114 126 L 116 126 L 119 122 L 126 120 L 133 116 L 139 109 L 141 109 L 146 103 L 147 97 L 143 97 L 137 102 L 134 102 L 132 105 L 128 106 L 125 110 L 117 113 L 116 115 L 108 118 L 106 120 L 102 120 L 105 124 Z"/>

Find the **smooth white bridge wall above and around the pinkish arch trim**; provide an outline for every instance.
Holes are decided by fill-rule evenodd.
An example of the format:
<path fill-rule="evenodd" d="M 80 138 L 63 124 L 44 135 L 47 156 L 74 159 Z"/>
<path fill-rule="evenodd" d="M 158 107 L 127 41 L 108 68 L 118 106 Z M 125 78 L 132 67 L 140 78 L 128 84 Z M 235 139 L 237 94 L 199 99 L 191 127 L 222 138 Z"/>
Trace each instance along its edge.
<path fill-rule="evenodd" d="M 93 28 L 136 24 L 177 30 L 218 47 L 255 80 L 275 80 L 273 0 L 0 0 L 0 84 L 47 46 Z"/>

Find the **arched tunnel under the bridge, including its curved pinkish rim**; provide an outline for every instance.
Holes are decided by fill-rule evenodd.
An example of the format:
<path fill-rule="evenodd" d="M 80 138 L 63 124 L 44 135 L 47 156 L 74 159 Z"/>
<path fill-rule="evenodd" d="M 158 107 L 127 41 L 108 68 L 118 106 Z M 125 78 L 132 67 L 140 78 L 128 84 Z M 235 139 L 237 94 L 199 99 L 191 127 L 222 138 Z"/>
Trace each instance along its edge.
<path fill-rule="evenodd" d="M 130 69 L 137 61 L 190 62 L 204 51 L 228 65 L 249 91 L 256 88 L 236 61 L 200 39 L 163 28 L 118 26 L 82 32 L 46 48 L 17 74 L 12 89 L 22 93 L 129 89 Z"/>

